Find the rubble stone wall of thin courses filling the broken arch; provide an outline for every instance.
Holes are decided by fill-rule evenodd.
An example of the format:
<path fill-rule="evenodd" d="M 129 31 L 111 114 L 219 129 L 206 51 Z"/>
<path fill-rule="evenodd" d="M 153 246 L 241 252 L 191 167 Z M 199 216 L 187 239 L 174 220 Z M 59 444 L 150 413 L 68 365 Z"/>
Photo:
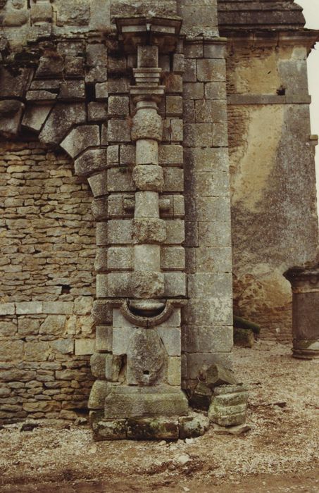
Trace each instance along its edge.
<path fill-rule="evenodd" d="M 92 386 L 91 193 L 65 154 L 0 152 L 0 422 L 75 419 Z"/>

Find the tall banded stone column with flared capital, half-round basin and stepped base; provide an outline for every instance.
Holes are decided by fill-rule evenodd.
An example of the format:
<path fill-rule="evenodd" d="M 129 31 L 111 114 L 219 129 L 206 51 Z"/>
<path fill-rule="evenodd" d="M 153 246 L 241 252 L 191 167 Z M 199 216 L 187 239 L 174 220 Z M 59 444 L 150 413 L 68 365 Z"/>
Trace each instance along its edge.
<path fill-rule="evenodd" d="M 196 436 L 204 432 L 206 421 L 189 416 L 181 389 L 181 308 L 187 304 L 182 146 L 161 145 L 159 110 L 165 93 L 159 53 L 169 58 L 175 50 L 180 20 L 123 18 L 117 19 L 117 25 L 125 51 L 137 53 L 137 68 L 132 69 L 135 85 L 130 87 L 134 105 L 130 118 L 134 146 L 130 146 L 135 162 L 116 182 L 110 180 L 111 173 L 106 180 L 111 192 L 108 211 L 115 199 L 122 201 L 123 208 L 117 207 L 116 220 L 108 220 L 107 260 L 101 261 L 103 274 L 97 282 L 101 318 L 105 320 L 108 310 L 111 324 L 103 351 L 100 330 L 106 327 L 96 332 L 96 348 L 101 352 L 91 359 L 92 373 L 98 378 L 89 399 L 91 423 L 95 439 Z M 180 96 L 168 96 L 166 115 L 181 116 L 181 102 Z M 111 109 L 118 114 L 118 108 Z M 120 129 L 125 121 L 116 125 Z M 108 121 L 108 142 L 121 141 L 120 137 L 115 138 L 113 122 Z M 111 154 L 111 146 L 108 150 Z M 123 189 L 134 196 L 125 198 L 118 193 Z M 130 220 L 122 212 L 127 210 L 134 213 Z M 130 255 L 130 263 L 125 263 L 123 254 Z M 118 263 L 117 271 L 110 273 L 112 256 Z"/>

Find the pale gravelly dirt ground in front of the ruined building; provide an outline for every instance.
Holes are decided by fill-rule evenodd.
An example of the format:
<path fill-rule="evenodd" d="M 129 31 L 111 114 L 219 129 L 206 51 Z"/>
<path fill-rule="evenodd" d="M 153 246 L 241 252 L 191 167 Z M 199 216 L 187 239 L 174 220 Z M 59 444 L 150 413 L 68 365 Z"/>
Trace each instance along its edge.
<path fill-rule="evenodd" d="M 262 341 L 234 363 L 250 391 L 246 434 L 94 443 L 87 425 L 8 425 L 0 492 L 319 492 L 319 360 Z"/>

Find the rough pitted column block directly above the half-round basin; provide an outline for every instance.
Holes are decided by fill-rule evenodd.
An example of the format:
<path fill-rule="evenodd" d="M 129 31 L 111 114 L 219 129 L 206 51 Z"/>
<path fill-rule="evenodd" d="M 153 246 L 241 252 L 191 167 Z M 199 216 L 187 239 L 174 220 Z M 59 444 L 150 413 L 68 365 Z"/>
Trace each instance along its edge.
<path fill-rule="evenodd" d="M 164 294 L 164 275 L 160 272 L 135 270 L 132 273 L 131 292 L 137 298 L 162 297 Z"/>

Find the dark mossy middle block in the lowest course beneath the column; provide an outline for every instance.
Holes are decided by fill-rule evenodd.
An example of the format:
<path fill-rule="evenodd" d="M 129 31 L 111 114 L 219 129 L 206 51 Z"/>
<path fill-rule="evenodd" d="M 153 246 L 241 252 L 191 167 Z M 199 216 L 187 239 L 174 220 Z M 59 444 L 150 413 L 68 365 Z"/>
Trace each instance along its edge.
<path fill-rule="evenodd" d="M 177 440 L 178 420 L 168 418 L 140 418 L 127 421 L 127 438 L 134 440 Z"/>

